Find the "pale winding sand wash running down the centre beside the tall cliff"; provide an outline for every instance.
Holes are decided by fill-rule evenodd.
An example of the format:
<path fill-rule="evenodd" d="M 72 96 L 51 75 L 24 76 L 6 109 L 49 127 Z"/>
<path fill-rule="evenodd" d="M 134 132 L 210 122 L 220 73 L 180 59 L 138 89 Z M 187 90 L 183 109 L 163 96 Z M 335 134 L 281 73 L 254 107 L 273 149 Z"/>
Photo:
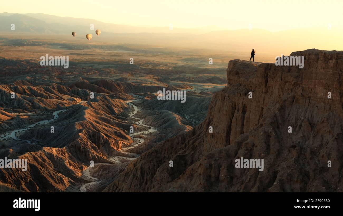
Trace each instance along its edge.
<path fill-rule="evenodd" d="M 134 95 L 134 94 L 131 94 L 131 95 L 139 97 L 139 98 L 143 98 L 142 96 L 139 96 L 139 95 Z M 133 117 L 138 111 L 140 111 L 140 109 L 137 106 L 135 106 L 134 104 L 131 103 L 131 102 L 134 102 L 134 101 L 137 101 L 137 100 L 140 100 L 140 99 L 128 100 L 126 102 L 127 104 L 129 104 L 129 105 L 131 105 L 133 107 L 133 112 L 131 112 L 129 114 L 129 116 L 130 116 L 130 118 L 138 120 L 138 121 L 134 122 L 134 124 L 138 124 L 138 125 L 143 125 L 145 127 L 149 127 L 149 130 L 130 134 L 131 139 L 135 140 L 135 142 L 137 142 L 137 143 L 135 143 L 133 146 L 130 146 L 130 147 L 118 149 L 118 151 L 127 154 L 128 157 L 114 156 L 114 157 L 108 158 L 109 160 L 111 160 L 111 161 L 113 161 L 115 163 L 121 163 L 120 160 L 123 160 L 123 159 L 134 160 L 134 159 L 136 159 L 136 158 L 138 158 L 140 156 L 139 154 L 127 152 L 129 149 L 132 149 L 132 148 L 137 147 L 138 145 L 144 143 L 144 139 L 143 138 L 134 138 L 133 136 L 136 136 L 136 135 L 139 135 L 139 134 L 148 134 L 148 133 L 152 133 L 152 132 L 157 131 L 157 129 L 155 129 L 154 127 L 151 127 L 149 125 L 143 124 L 144 119 Z M 97 165 L 97 164 L 104 164 L 104 163 L 95 163 L 94 165 Z M 91 173 L 90 173 L 91 168 L 93 168 L 93 167 L 87 167 L 83 171 L 83 173 L 82 173 L 82 177 L 86 177 L 87 180 L 90 180 L 91 182 L 83 184 L 80 187 L 80 191 L 81 192 L 86 192 L 87 189 L 90 189 L 93 185 L 96 185 L 96 184 L 101 182 L 101 180 L 99 180 L 98 178 L 95 178 L 95 177 L 91 176 Z"/>

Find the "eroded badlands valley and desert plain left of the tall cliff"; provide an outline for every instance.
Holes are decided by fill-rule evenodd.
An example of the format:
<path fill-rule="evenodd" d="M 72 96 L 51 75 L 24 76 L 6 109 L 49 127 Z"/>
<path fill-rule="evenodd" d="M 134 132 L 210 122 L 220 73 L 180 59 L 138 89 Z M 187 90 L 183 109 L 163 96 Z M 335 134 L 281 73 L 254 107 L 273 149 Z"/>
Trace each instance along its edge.
<path fill-rule="evenodd" d="M 41 66 L 47 54 L 69 56 L 69 68 Z M 27 159 L 28 169 L 0 169 L 1 191 L 104 190 L 144 152 L 204 120 L 227 84 L 226 62 L 208 50 L 3 34 L 0 158 Z M 163 89 L 185 90 L 186 102 L 157 100 Z"/>

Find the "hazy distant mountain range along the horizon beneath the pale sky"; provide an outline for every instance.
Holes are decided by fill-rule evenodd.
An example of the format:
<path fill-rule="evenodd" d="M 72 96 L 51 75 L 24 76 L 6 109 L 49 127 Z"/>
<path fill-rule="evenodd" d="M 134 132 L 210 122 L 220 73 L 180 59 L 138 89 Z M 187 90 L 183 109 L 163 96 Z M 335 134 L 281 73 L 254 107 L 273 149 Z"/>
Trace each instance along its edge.
<path fill-rule="evenodd" d="M 15 24 L 15 31 L 11 30 Z M 90 30 L 94 24 L 94 30 Z M 288 55 L 292 50 L 307 50 L 318 47 L 322 50 L 343 50 L 341 35 L 343 30 L 333 28 L 290 29 L 277 32 L 253 28 L 249 30 L 214 30 L 214 27 L 204 28 L 177 28 L 169 27 L 136 27 L 108 24 L 94 19 L 59 17 L 47 14 L 17 14 L 0 13 L 0 33 L 13 33 L 14 37 L 21 37 L 17 32 L 44 34 L 44 37 L 54 36 L 66 40 L 63 35 L 70 35 L 68 40 L 84 39 L 87 33 L 102 30 L 102 35 L 93 37 L 90 43 L 96 40 L 100 43 L 130 43 L 149 44 L 157 46 L 172 46 L 177 48 L 208 49 L 230 52 L 240 52 L 235 58 L 249 59 L 251 49 L 257 51 L 255 60 L 259 62 L 273 62 L 275 56 Z M 73 38 L 71 32 L 76 31 Z M 328 40 L 330 38 L 330 40 Z M 299 43 L 299 41 L 301 41 Z M 318 45 L 318 41 L 326 41 Z M 209 56 L 210 57 L 210 56 Z"/>

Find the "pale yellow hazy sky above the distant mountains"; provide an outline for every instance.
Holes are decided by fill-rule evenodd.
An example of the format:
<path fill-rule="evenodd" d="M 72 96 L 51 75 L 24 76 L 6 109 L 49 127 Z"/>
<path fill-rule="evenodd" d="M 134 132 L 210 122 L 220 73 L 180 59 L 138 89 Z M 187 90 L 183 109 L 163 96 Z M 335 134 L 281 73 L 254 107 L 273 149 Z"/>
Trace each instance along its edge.
<path fill-rule="evenodd" d="M 271 31 L 343 26 L 343 0 L 11 0 L 2 12 L 45 13 L 134 26 Z"/>

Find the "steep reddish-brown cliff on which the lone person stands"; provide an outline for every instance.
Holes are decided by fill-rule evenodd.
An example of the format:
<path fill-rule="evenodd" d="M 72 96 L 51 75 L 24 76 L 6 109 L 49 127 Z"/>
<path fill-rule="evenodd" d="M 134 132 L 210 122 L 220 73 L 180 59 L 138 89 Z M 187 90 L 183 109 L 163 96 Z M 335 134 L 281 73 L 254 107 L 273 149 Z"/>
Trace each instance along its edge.
<path fill-rule="evenodd" d="M 304 68 L 231 60 L 205 120 L 143 153 L 104 191 L 343 191 L 343 52 L 291 55 Z M 235 168 L 241 157 L 264 159 L 264 170 Z"/>

